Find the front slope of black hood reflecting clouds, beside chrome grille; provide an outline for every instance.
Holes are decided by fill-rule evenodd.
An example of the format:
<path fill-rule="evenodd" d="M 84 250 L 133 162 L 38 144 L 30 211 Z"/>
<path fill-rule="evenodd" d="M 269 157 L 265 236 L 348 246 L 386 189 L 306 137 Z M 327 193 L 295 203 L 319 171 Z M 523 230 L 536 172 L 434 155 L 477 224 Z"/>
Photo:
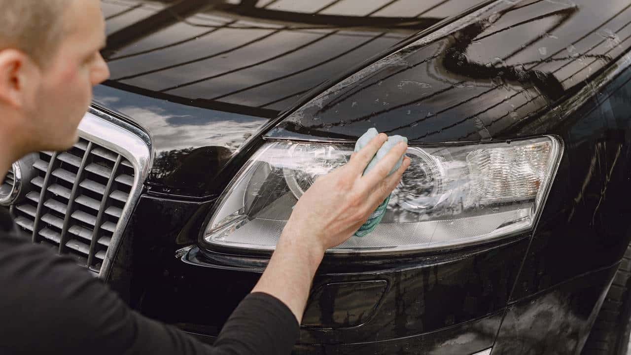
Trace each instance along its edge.
<path fill-rule="evenodd" d="M 204 197 L 221 192 L 221 174 L 242 143 L 268 120 L 205 109 L 98 85 L 94 99 L 151 135 L 153 165 L 148 190 Z M 224 182 L 225 183 L 225 182 Z"/>

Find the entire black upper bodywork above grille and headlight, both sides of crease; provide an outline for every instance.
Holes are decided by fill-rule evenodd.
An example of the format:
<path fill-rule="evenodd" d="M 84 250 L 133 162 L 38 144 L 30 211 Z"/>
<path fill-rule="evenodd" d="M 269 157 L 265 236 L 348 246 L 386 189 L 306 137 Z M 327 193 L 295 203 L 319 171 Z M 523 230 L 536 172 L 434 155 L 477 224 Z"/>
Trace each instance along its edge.
<path fill-rule="evenodd" d="M 308 102 L 268 137 L 554 134 L 558 104 L 595 97 L 582 89 L 631 44 L 625 0 L 235 2 L 103 0 L 112 80 L 95 99 L 150 133 L 155 191 L 217 195 L 235 152 L 298 100 Z M 355 66 L 365 68 L 342 80 Z"/>

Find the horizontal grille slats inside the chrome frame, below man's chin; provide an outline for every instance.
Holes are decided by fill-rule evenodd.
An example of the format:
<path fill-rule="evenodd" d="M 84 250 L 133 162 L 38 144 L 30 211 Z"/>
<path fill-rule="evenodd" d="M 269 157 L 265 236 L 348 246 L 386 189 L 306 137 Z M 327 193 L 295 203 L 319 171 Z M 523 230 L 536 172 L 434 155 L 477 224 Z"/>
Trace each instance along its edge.
<path fill-rule="evenodd" d="M 29 191 L 15 205 L 16 224 L 33 242 L 100 272 L 134 185 L 133 165 L 81 138 L 66 152 L 40 152 L 33 167 Z"/>

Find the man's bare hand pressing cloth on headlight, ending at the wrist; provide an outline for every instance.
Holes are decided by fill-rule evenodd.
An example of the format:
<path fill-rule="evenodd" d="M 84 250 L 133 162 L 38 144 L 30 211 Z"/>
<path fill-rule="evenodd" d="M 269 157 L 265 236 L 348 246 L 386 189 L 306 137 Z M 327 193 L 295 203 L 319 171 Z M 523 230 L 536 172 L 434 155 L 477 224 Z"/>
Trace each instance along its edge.
<path fill-rule="evenodd" d="M 387 140 L 384 133 L 351 155 L 348 164 L 316 179 L 293 208 L 282 238 L 300 240 L 319 247 L 322 253 L 350 238 L 380 203 L 392 193 L 410 158 L 387 176 L 405 152 L 403 142 L 393 147 L 366 176 L 362 172 L 377 150 Z"/>

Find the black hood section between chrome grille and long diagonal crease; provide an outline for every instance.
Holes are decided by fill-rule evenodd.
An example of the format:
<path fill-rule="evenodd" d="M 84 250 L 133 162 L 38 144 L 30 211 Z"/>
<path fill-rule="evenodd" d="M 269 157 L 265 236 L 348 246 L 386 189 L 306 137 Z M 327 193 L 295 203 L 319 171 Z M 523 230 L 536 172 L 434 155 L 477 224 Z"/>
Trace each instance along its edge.
<path fill-rule="evenodd" d="M 111 79 L 95 101 L 150 133 L 154 191 L 215 195 L 213 176 L 269 119 L 479 2 L 102 0 Z"/>

